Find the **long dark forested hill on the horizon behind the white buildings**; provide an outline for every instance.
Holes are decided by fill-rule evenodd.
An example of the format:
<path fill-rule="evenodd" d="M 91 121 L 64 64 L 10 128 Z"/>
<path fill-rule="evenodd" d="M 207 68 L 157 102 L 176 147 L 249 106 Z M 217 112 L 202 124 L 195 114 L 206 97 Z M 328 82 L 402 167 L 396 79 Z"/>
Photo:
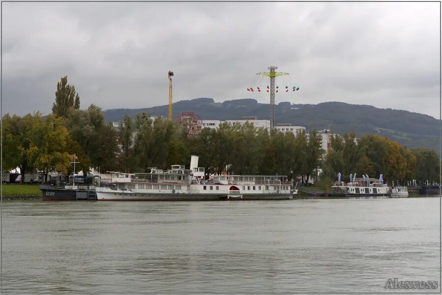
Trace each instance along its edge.
<path fill-rule="evenodd" d="M 167 117 L 168 106 L 146 109 L 113 109 L 104 111 L 106 121 L 120 121 L 125 114 L 135 117 L 138 113 Z M 216 103 L 212 98 L 182 100 L 173 104 L 173 118 L 182 112 L 194 112 L 202 119 L 240 119 L 255 116 L 269 119 L 269 104 L 255 99 L 228 100 Z M 439 120 L 402 110 L 378 109 L 368 105 L 352 105 L 342 102 L 325 102 L 317 105 L 281 102 L 275 107 L 276 123 L 304 126 L 307 131 L 326 129 L 331 125 L 333 133 L 355 131 L 357 135 L 378 134 L 406 145 L 407 148 L 433 148 L 439 150 Z"/>

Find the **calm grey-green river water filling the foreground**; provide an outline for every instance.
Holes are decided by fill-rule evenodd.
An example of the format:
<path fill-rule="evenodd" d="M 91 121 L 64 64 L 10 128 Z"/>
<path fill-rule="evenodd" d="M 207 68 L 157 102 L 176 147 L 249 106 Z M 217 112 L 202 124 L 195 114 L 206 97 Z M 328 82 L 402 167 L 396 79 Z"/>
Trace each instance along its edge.
<path fill-rule="evenodd" d="M 389 278 L 440 278 L 437 197 L 4 202 L 2 220 L 2 294 L 385 293 Z"/>

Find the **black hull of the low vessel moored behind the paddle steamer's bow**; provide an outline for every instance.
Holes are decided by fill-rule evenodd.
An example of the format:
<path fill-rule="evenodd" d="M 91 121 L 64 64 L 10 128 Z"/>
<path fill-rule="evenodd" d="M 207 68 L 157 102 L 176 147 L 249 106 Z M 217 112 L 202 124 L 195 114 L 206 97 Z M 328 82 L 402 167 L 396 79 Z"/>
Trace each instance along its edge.
<path fill-rule="evenodd" d="M 96 201 L 94 190 L 65 189 L 42 185 L 43 201 Z"/>

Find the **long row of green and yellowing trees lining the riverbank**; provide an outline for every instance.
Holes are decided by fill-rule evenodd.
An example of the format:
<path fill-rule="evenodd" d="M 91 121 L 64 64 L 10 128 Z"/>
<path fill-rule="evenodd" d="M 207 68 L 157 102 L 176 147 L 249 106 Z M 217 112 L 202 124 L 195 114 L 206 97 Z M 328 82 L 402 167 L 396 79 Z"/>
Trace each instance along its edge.
<path fill-rule="evenodd" d="M 72 175 L 79 171 L 150 173 L 150 167 L 189 167 L 191 154 L 208 175 L 279 175 L 304 186 L 314 182 L 330 190 L 341 173 L 383 178 L 389 185 L 439 183 L 440 159 L 430 148 L 407 148 L 386 137 L 355 132 L 330 136 L 322 148 L 317 130 L 296 135 L 253 122 L 221 123 L 202 128 L 193 119 L 168 121 L 149 114 L 125 116 L 117 126 L 105 123 L 101 108 L 80 109 L 80 97 L 67 76 L 57 83 L 53 113 L 23 117 L 6 114 L 3 122 L 3 167 L 25 173 Z M 72 161 L 78 163 L 74 167 Z M 32 194 L 34 195 L 34 194 Z M 38 193 L 40 196 L 41 193 Z"/>

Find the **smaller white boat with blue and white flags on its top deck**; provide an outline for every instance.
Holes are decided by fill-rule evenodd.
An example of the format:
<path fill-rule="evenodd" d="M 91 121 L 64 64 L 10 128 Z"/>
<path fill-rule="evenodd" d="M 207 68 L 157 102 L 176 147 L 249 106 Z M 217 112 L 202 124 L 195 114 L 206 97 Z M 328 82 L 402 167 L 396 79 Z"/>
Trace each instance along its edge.
<path fill-rule="evenodd" d="M 362 175 L 362 178 L 356 177 L 356 173 L 350 175 L 350 181 L 344 182 L 340 180 L 340 173 L 338 181 L 332 186 L 335 193 L 345 194 L 346 197 L 389 197 L 391 195 L 390 188 L 384 184 L 382 174 L 379 179 L 369 178 L 368 175 Z"/>

